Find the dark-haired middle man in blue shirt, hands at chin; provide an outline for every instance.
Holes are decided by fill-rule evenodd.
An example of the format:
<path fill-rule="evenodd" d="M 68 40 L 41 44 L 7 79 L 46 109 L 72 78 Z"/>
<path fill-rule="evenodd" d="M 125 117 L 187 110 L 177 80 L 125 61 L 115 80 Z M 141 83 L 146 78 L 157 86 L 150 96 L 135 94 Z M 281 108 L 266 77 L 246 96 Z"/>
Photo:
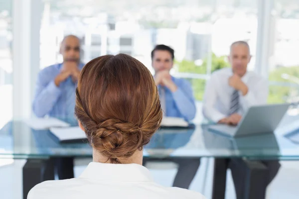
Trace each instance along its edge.
<path fill-rule="evenodd" d="M 157 45 L 151 52 L 151 60 L 164 115 L 192 120 L 196 107 L 191 85 L 188 81 L 169 74 L 173 67 L 174 50 L 165 45 Z"/>

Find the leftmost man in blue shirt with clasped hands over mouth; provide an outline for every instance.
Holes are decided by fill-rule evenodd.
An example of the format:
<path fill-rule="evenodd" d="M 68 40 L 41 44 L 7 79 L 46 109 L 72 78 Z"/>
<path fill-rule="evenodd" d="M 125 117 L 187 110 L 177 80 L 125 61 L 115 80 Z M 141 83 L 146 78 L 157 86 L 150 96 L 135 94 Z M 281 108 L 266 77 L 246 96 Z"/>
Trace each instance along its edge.
<path fill-rule="evenodd" d="M 46 67 L 39 72 L 33 101 L 37 117 L 56 117 L 72 125 L 74 116 L 75 87 L 84 64 L 80 63 L 80 40 L 74 35 L 64 37 L 60 53 L 63 63 Z M 57 158 L 59 179 L 74 178 L 73 158 Z"/>

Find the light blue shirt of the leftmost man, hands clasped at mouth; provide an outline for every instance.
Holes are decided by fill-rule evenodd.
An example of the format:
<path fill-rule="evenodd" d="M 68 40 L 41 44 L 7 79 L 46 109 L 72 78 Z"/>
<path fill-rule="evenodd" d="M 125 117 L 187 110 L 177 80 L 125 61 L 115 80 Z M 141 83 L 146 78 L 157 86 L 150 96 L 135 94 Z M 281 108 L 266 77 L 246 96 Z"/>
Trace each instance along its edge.
<path fill-rule="evenodd" d="M 84 64 L 79 64 L 82 70 Z M 37 117 L 48 115 L 68 122 L 75 122 L 76 84 L 69 77 L 59 87 L 54 83 L 55 77 L 62 69 L 61 64 L 51 65 L 39 72 L 33 101 L 33 112 Z"/>

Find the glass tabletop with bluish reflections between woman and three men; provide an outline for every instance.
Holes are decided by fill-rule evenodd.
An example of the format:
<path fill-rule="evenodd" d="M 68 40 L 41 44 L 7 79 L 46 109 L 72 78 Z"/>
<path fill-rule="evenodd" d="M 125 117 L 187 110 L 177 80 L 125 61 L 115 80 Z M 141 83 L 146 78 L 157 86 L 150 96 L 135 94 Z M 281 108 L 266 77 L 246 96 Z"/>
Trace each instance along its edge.
<path fill-rule="evenodd" d="M 285 130 L 232 138 L 211 132 L 208 127 L 160 128 L 144 147 L 144 156 L 299 160 L 299 143 L 285 137 Z M 60 143 L 49 130 L 34 130 L 23 120 L 12 120 L 0 129 L 0 158 L 64 156 L 91 157 L 92 148 L 87 140 Z"/>

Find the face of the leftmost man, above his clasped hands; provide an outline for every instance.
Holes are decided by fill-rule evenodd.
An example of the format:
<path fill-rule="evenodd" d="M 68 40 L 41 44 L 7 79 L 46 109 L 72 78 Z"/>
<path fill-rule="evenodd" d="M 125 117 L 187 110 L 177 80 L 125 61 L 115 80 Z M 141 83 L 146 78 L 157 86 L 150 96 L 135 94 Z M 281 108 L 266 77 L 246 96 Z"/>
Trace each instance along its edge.
<path fill-rule="evenodd" d="M 80 41 L 74 36 L 69 36 L 61 43 L 60 53 L 63 57 L 63 62 L 80 61 Z"/>

